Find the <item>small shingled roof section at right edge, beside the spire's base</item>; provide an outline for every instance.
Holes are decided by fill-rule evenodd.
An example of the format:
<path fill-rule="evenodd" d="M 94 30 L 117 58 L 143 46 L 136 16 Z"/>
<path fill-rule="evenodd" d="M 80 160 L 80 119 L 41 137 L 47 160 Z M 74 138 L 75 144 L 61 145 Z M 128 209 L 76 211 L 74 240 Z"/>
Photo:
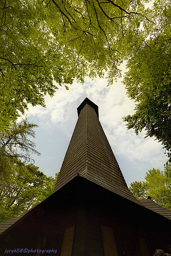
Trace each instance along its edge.
<path fill-rule="evenodd" d="M 141 199 L 138 200 L 144 207 L 148 208 L 149 210 L 153 210 L 157 212 L 157 214 L 162 215 L 163 217 L 171 220 L 171 210 L 168 210 L 159 204 L 155 203 L 152 199 Z"/>

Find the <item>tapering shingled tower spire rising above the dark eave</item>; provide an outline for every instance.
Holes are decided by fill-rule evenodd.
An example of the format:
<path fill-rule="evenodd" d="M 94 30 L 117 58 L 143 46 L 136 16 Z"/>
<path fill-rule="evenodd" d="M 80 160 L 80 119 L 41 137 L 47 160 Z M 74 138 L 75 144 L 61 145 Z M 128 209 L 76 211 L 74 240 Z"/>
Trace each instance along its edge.
<path fill-rule="evenodd" d="M 54 192 L 79 175 L 139 204 L 126 185 L 99 122 L 96 105 L 86 98 L 78 110 L 78 121 Z"/>

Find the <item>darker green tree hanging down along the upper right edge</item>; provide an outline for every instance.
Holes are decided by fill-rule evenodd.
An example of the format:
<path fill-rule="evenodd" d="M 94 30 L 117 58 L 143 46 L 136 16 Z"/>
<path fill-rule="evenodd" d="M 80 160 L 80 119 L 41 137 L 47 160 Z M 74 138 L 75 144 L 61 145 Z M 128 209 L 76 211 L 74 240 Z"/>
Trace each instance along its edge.
<path fill-rule="evenodd" d="M 162 5 L 162 6 L 161 6 Z M 139 31 L 130 46 L 124 83 L 127 94 L 135 100 L 135 114 L 123 118 L 127 128 L 138 135 L 143 129 L 164 145 L 171 159 L 171 6 L 170 1 L 155 1 L 152 13 L 158 12 L 151 29 Z M 146 33 L 146 35 L 145 35 Z M 142 38 L 145 38 L 142 40 Z"/>

